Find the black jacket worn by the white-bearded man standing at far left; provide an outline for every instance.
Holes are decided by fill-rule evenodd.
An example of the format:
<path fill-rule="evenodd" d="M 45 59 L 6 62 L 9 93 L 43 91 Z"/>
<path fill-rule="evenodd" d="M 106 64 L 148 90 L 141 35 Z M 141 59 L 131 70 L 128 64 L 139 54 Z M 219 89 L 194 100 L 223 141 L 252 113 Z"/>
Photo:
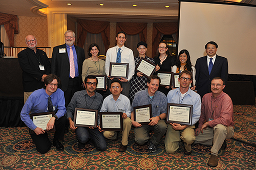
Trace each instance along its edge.
<path fill-rule="evenodd" d="M 40 63 L 44 65 L 45 70 L 40 70 L 39 61 L 36 59 L 30 48 L 18 53 L 18 62 L 23 70 L 23 89 L 24 91 L 34 91 L 44 86 L 41 78 L 42 75 L 49 75 L 51 71 L 51 63 L 46 53 L 42 50 L 37 49 L 38 55 L 40 56 Z"/>

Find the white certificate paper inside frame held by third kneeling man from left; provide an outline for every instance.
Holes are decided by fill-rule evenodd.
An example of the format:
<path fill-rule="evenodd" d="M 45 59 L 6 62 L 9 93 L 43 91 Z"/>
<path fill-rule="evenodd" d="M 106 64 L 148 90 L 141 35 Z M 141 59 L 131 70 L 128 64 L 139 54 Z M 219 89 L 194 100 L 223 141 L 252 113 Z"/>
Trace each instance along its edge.
<path fill-rule="evenodd" d="M 122 118 L 120 114 L 102 114 L 102 128 L 120 129 Z"/>

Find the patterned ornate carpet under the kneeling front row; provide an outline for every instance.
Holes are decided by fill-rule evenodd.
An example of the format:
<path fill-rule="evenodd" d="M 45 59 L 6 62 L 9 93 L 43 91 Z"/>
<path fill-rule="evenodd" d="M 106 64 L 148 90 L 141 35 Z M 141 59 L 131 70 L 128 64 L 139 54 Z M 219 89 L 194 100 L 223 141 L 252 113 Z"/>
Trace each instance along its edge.
<path fill-rule="evenodd" d="M 256 144 L 256 107 L 234 106 L 233 138 Z M 53 135 L 50 133 L 50 138 Z M 107 140 L 108 148 L 99 152 L 92 143 L 86 148 L 77 148 L 74 131 L 65 135 L 65 151 L 52 147 L 46 154 L 39 154 L 28 133 L 28 128 L 0 128 L 0 169 L 256 169 L 256 148 L 250 144 L 228 139 L 227 149 L 219 151 L 219 164 L 207 165 L 210 146 L 194 144 L 191 155 L 183 154 L 183 144 L 176 154 L 164 150 L 164 138 L 155 153 L 147 153 L 147 146 L 134 142 L 134 133 L 129 136 L 127 151 L 119 153 L 119 140 Z"/>

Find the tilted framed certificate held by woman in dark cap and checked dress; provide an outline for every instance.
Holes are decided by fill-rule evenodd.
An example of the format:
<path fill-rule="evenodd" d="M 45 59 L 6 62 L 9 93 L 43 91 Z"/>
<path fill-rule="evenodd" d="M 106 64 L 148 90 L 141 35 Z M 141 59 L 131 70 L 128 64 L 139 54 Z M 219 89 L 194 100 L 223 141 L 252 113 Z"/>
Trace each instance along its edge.
<path fill-rule="evenodd" d="M 136 71 L 142 72 L 144 76 L 150 77 L 156 70 L 156 64 L 148 61 L 147 59 L 141 57 L 138 65 L 135 68 Z"/>

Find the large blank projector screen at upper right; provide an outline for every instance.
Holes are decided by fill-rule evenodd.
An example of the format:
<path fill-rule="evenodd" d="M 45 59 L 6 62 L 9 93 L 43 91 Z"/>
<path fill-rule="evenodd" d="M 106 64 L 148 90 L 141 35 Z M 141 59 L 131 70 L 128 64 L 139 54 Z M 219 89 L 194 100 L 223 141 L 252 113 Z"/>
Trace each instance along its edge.
<path fill-rule="evenodd" d="M 229 74 L 256 75 L 256 7 L 180 2 L 179 17 L 178 51 L 188 50 L 193 65 L 215 41 Z"/>

